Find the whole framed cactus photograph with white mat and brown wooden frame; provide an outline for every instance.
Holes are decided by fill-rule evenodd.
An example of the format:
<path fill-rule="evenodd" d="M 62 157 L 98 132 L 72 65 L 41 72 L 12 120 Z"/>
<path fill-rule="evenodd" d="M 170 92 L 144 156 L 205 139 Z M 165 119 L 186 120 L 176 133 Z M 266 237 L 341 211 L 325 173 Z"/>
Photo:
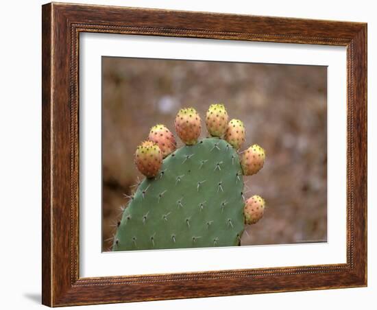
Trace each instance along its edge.
<path fill-rule="evenodd" d="M 367 285 L 367 25 L 42 6 L 42 303 Z"/>

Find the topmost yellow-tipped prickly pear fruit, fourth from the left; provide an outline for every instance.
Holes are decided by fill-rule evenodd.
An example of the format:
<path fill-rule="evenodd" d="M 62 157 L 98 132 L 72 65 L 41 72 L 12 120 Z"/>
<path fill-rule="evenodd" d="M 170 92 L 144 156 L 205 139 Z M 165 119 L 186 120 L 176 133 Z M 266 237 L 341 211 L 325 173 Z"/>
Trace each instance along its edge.
<path fill-rule="evenodd" d="M 211 104 L 206 114 L 206 126 L 211 136 L 223 136 L 228 125 L 228 112 L 223 104 Z"/>

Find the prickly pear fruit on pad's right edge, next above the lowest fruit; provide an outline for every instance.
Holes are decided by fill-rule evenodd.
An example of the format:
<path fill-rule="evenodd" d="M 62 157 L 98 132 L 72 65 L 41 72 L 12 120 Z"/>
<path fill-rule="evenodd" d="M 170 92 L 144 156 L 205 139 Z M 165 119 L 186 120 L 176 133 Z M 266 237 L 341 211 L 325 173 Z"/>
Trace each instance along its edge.
<path fill-rule="evenodd" d="M 265 150 L 254 144 L 241 154 L 241 166 L 245 176 L 252 176 L 263 168 L 265 163 Z"/>

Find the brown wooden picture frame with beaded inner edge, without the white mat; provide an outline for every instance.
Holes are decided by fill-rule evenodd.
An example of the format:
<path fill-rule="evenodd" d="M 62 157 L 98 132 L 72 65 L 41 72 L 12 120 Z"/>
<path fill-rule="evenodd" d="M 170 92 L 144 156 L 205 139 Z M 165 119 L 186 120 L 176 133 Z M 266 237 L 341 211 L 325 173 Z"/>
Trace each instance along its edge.
<path fill-rule="evenodd" d="M 347 47 L 347 263 L 79 276 L 79 34 Z M 42 303 L 50 307 L 367 285 L 367 24 L 49 3 L 42 6 Z"/>

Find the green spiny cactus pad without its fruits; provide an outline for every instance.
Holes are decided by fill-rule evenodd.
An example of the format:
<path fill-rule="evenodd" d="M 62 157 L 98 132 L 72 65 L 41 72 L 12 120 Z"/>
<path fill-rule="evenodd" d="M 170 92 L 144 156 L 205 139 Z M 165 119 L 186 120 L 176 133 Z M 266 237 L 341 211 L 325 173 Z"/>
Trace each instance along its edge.
<path fill-rule="evenodd" d="M 243 178 L 232 145 L 208 138 L 163 160 L 123 213 L 112 250 L 238 246 Z"/>

